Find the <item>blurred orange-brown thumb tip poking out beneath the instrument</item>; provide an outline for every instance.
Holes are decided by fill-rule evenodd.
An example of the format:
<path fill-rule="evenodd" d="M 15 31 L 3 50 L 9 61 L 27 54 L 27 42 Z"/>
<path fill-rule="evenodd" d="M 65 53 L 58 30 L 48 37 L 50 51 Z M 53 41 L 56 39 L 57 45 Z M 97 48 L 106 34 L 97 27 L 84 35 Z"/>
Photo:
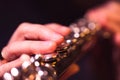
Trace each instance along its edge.
<path fill-rule="evenodd" d="M 78 71 L 80 71 L 80 67 L 77 64 L 72 64 L 59 80 L 67 80 L 70 76 L 74 75 Z"/>

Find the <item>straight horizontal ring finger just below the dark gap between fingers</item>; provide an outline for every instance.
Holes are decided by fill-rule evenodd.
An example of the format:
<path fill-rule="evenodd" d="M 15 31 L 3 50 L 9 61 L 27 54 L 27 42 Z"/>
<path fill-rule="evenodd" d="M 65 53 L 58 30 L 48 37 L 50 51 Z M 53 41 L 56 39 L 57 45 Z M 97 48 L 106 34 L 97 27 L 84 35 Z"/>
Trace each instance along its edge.
<path fill-rule="evenodd" d="M 2 50 L 2 56 L 7 60 L 13 60 L 21 54 L 45 54 L 51 53 L 57 45 L 52 41 L 19 41 L 13 42 Z"/>

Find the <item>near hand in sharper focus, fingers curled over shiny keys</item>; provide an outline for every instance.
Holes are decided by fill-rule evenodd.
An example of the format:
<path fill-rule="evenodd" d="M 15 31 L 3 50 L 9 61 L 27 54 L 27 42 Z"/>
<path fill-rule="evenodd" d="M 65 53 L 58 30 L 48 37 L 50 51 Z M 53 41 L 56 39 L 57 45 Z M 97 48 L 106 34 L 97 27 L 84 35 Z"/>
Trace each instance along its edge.
<path fill-rule="evenodd" d="M 69 28 L 58 24 L 22 23 L 2 50 L 5 60 L 0 61 L 0 77 L 29 60 L 28 55 L 54 52 L 69 33 Z"/>

